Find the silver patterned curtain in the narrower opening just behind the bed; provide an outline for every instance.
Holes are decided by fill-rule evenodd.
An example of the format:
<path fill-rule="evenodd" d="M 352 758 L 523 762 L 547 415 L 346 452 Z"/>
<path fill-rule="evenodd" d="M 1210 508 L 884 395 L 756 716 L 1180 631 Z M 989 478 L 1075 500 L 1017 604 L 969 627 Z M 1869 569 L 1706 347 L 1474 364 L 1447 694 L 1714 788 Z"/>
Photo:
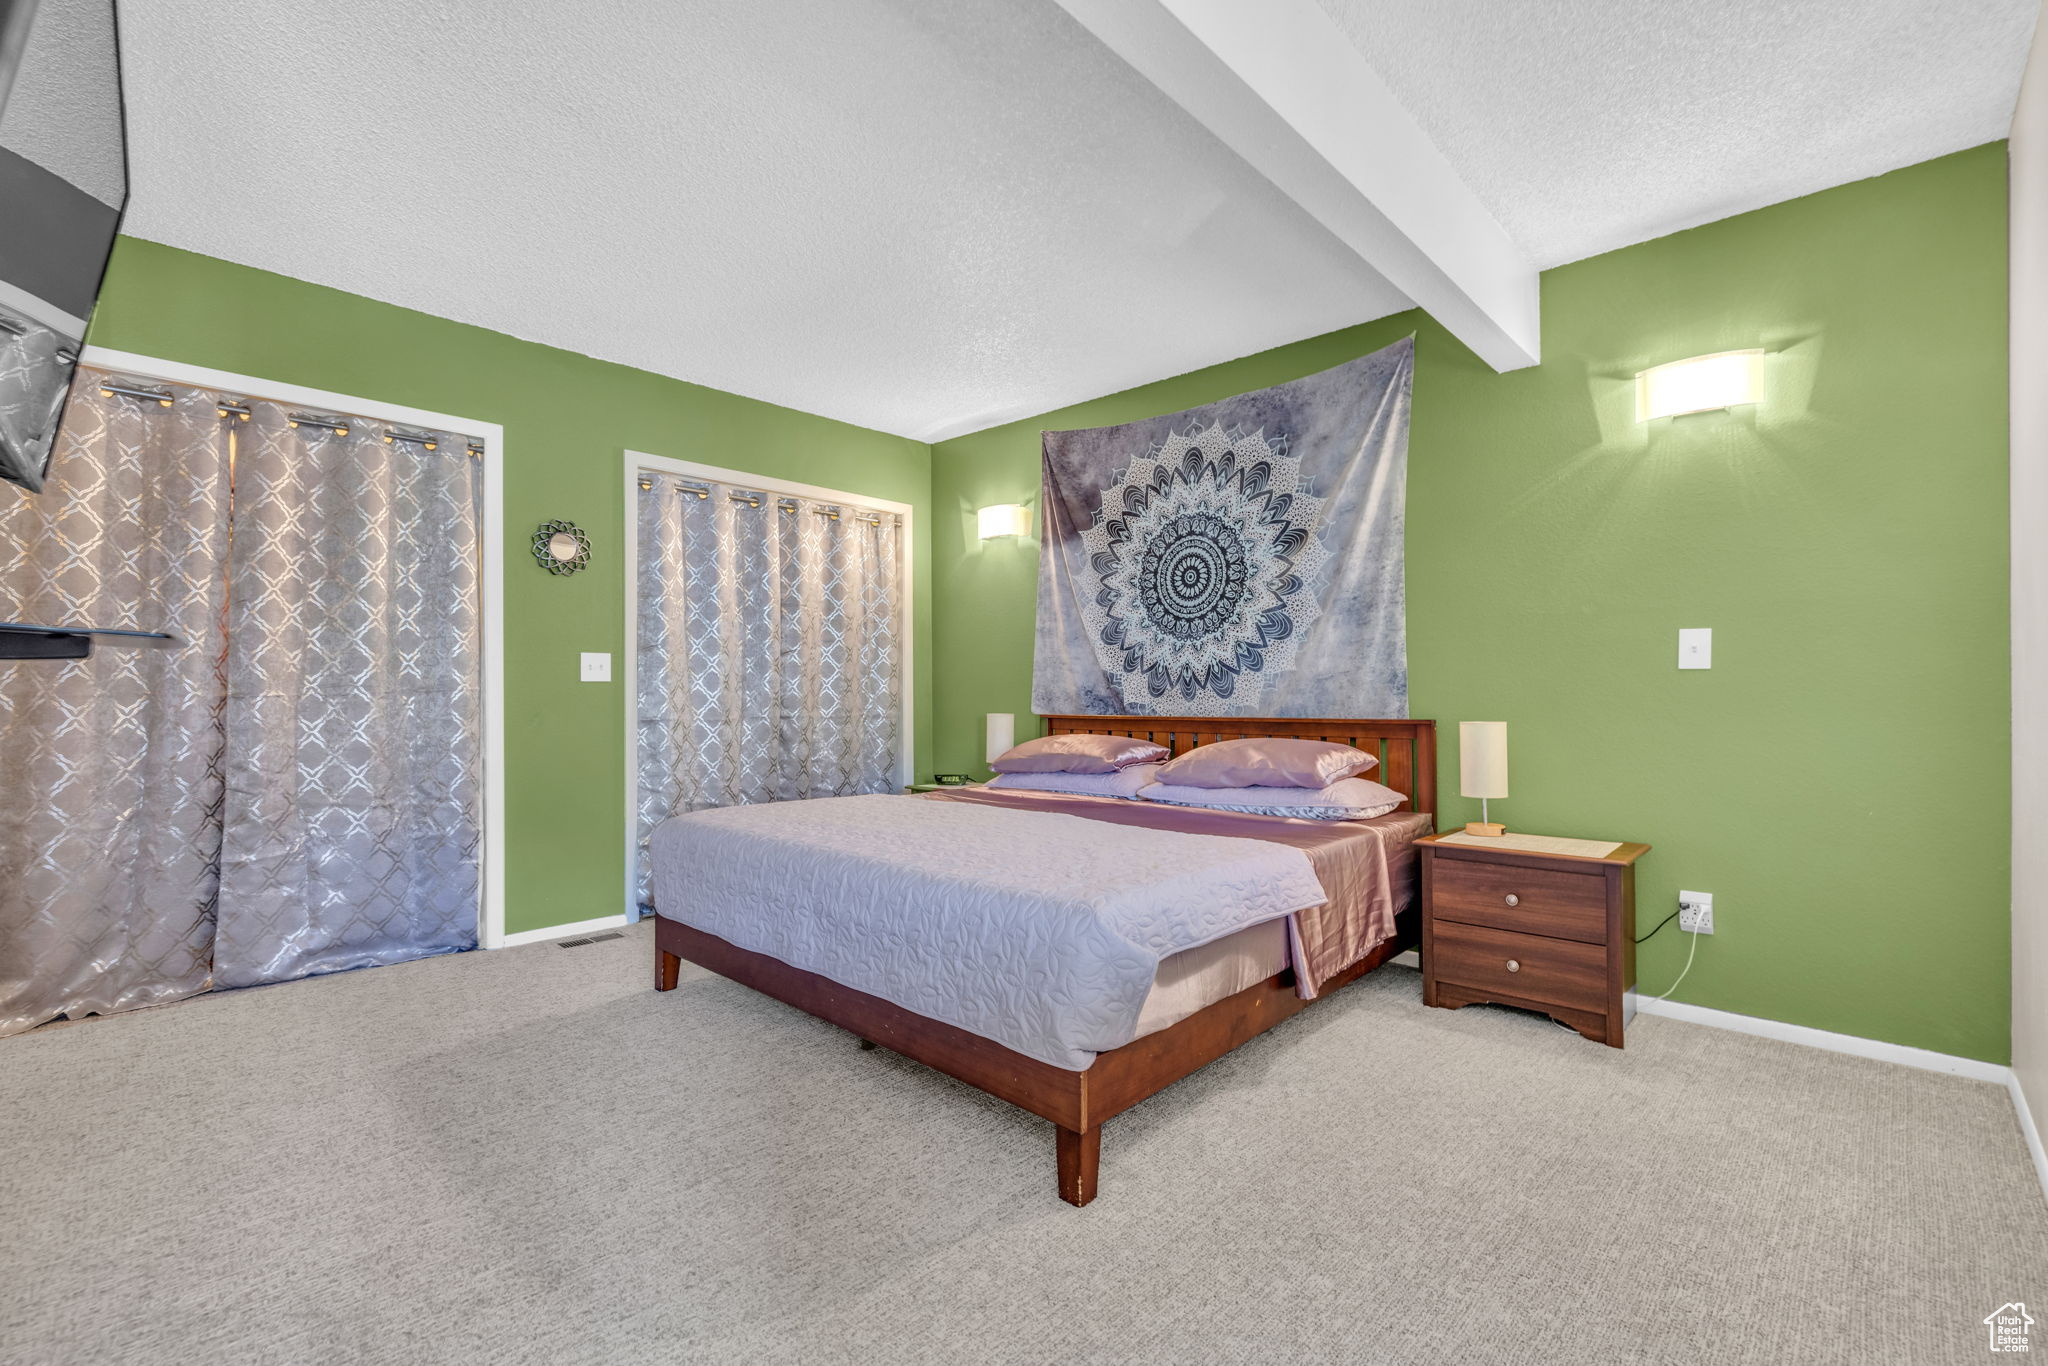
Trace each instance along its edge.
<path fill-rule="evenodd" d="M 670 815 L 895 788 L 901 545 L 891 512 L 641 475 L 639 905 Z"/>

